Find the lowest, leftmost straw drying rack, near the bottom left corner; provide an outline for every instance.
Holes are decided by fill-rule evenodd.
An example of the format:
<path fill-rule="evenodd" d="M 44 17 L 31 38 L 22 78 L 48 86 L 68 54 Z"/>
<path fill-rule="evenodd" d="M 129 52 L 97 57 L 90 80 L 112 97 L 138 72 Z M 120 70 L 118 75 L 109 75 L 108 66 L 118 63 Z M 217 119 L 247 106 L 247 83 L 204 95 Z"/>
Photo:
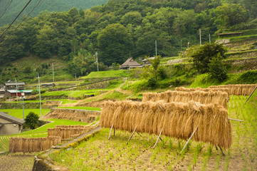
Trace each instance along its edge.
<path fill-rule="evenodd" d="M 46 138 L 11 138 L 9 152 L 39 152 L 48 150 L 52 145 L 61 143 L 61 137 L 48 136 Z"/>

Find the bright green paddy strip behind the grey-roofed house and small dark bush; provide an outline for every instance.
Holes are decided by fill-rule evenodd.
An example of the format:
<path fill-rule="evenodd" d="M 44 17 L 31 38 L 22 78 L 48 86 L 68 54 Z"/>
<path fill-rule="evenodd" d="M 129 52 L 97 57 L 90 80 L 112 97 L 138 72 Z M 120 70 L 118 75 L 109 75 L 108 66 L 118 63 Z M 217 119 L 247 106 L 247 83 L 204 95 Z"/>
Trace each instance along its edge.
<path fill-rule="evenodd" d="M 1 112 L 8 113 L 8 115 L 12 115 L 16 118 L 23 119 L 23 110 L 22 109 L 0 109 Z M 40 109 L 25 109 L 24 110 L 24 115 L 26 118 L 26 115 L 28 113 L 33 112 L 36 113 L 37 115 L 40 116 Z M 46 115 L 47 113 L 50 112 L 50 109 L 42 109 L 42 116 Z"/>

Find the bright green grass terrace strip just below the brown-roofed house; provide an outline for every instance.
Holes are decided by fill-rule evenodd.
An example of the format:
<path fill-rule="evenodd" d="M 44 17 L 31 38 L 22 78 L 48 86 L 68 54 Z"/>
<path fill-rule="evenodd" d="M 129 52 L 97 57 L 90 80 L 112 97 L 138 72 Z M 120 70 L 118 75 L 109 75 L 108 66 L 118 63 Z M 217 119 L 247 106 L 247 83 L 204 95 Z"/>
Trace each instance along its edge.
<path fill-rule="evenodd" d="M 82 79 L 85 78 L 110 78 L 110 77 L 125 77 L 128 76 L 129 71 L 125 70 L 117 70 L 117 71 L 99 71 L 99 72 L 91 72 L 88 76 L 80 77 Z"/>

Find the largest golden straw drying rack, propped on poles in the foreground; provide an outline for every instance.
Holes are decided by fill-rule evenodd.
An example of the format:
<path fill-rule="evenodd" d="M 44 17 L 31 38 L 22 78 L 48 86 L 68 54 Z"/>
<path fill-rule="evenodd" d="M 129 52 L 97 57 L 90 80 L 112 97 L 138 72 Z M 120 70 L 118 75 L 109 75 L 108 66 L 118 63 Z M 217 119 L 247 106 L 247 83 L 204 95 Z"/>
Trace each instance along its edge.
<path fill-rule="evenodd" d="M 113 108 L 113 110 L 110 110 Z M 221 105 L 189 103 L 140 103 L 130 100 L 103 104 L 100 125 L 105 128 L 136 131 L 187 140 L 194 130 L 193 140 L 231 146 L 231 124 L 228 112 Z"/>

